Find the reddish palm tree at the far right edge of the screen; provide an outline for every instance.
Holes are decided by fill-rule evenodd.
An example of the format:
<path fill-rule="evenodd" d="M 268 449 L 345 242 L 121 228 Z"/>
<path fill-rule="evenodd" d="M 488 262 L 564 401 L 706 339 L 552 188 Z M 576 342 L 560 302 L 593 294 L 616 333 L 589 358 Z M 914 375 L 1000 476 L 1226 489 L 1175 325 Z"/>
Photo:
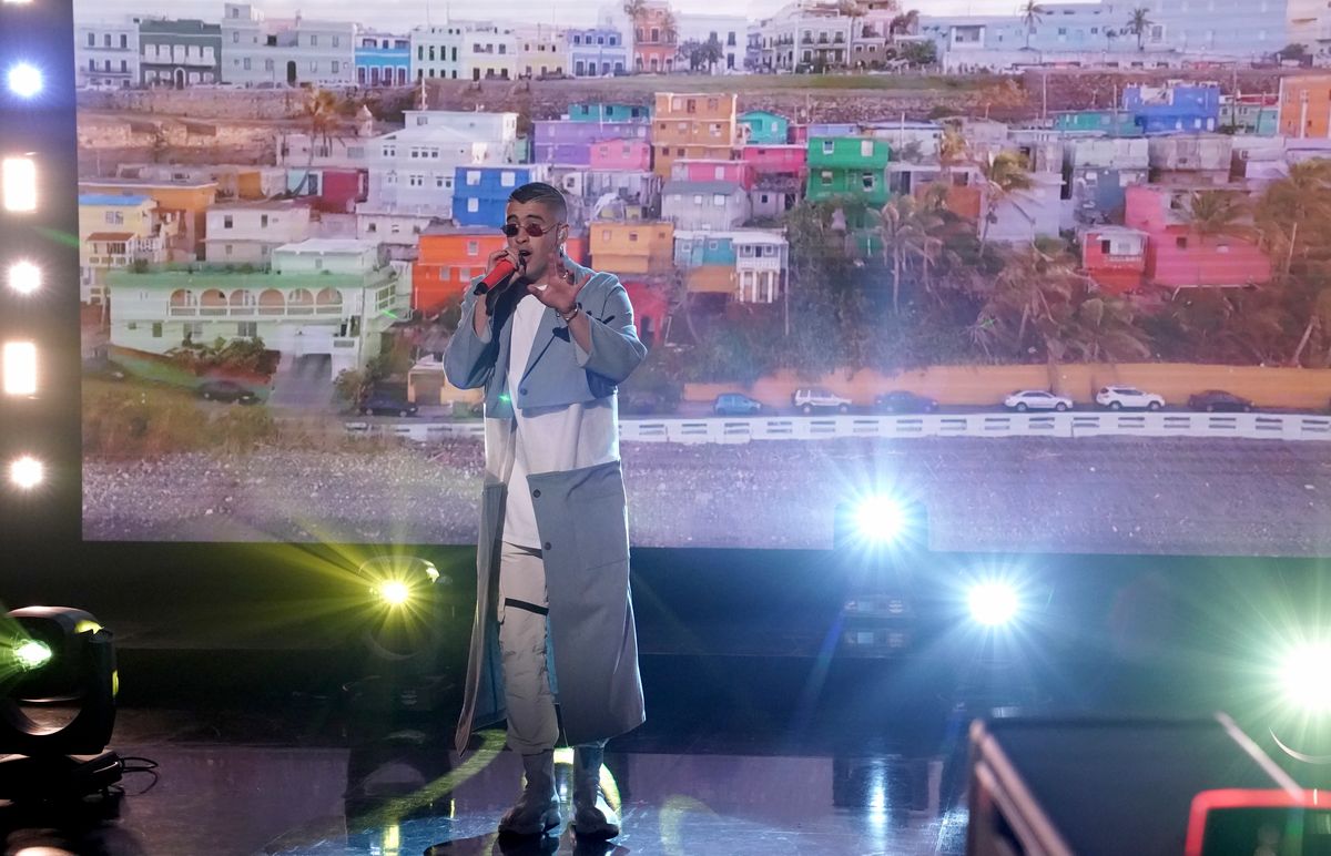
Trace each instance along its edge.
<path fill-rule="evenodd" d="M 1262 194 L 1256 221 L 1267 248 L 1283 257 L 1282 276 L 1288 277 L 1295 252 L 1307 256 L 1310 246 L 1326 245 L 1331 229 L 1331 161 L 1291 164 L 1290 174 Z"/>

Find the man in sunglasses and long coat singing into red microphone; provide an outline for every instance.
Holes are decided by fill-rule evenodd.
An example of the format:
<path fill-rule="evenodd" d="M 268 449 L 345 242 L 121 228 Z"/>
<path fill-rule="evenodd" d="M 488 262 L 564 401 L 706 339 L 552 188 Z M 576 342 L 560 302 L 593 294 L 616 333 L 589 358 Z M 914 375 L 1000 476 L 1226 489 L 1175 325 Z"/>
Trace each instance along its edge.
<path fill-rule="evenodd" d="M 615 387 L 647 349 L 619 278 L 564 254 L 567 210 L 548 184 L 512 192 L 507 246 L 467 289 L 445 355 L 450 382 L 486 391 L 476 614 L 457 748 L 507 716 L 527 781 L 499 831 L 542 835 L 560 824 L 562 720 L 575 747 L 574 831 L 612 837 L 619 817 L 599 787 L 606 740 L 646 716 Z M 515 270 L 499 280 L 504 264 Z"/>

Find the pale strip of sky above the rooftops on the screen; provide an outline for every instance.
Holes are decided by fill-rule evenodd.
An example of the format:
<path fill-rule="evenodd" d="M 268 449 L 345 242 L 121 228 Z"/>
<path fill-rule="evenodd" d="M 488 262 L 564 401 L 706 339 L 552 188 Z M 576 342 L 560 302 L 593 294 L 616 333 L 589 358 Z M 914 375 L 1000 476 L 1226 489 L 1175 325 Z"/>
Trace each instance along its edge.
<path fill-rule="evenodd" d="M 740 13 L 751 19 L 771 15 L 787 0 L 671 0 L 677 12 Z M 374 29 L 407 29 L 413 25 L 457 19 L 499 19 L 532 24 L 591 24 L 606 0 L 526 0 L 495 4 L 492 0 L 378 0 L 373 16 L 366 16 L 363 0 L 258 0 L 253 5 L 268 17 L 305 17 L 358 21 Z M 80 23 L 116 20 L 124 15 L 146 13 L 170 17 L 200 17 L 220 21 L 224 0 L 75 0 Z M 1021 0 L 902 0 L 902 7 L 921 15 L 1005 15 L 1016 13 Z M 555 17 L 555 9 L 559 17 Z"/>

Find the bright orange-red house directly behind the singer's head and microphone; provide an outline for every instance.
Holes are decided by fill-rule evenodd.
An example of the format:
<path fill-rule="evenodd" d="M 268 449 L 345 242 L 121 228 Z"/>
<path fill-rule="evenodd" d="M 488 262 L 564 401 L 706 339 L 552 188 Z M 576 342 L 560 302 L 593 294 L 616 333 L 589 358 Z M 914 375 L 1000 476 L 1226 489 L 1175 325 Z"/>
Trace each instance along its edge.
<path fill-rule="evenodd" d="M 411 308 L 434 314 L 462 298 L 473 277 L 486 272 L 490 253 L 507 238 L 490 226 L 441 226 L 421 236 L 419 256 L 411 266 Z M 587 264 L 587 236 L 568 234 L 568 257 Z"/>

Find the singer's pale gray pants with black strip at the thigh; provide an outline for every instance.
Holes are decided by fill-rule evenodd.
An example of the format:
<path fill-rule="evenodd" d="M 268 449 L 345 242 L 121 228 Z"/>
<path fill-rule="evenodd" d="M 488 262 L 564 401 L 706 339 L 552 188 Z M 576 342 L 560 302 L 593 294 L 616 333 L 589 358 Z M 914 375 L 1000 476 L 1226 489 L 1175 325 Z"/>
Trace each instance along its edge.
<path fill-rule="evenodd" d="M 503 543 L 498 610 L 508 748 L 522 755 L 546 752 L 559 739 L 559 720 L 546 662 L 550 602 L 540 550 Z"/>

